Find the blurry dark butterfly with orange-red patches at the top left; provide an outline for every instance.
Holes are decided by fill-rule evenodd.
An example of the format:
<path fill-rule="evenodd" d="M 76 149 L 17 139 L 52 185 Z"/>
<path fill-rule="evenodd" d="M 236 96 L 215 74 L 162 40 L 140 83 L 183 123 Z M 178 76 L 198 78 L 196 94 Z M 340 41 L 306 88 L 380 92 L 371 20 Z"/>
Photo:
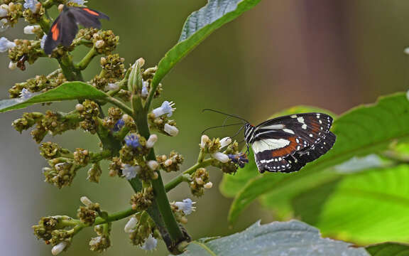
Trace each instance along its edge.
<path fill-rule="evenodd" d="M 86 7 L 64 6 L 61 14 L 55 19 L 44 43 L 44 52 L 53 53 L 59 45 L 70 46 L 78 32 L 78 23 L 85 28 L 101 28 L 99 18 L 109 20 L 109 17 L 99 11 Z"/>

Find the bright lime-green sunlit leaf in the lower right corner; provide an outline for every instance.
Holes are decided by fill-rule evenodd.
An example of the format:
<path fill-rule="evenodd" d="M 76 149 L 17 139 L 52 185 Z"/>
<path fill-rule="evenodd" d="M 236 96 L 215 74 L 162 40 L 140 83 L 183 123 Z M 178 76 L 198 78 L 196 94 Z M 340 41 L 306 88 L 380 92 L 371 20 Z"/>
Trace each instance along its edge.
<path fill-rule="evenodd" d="M 359 245 L 409 242 L 408 188 L 407 164 L 350 174 L 295 198 L 295 214 L 325 236 Z M 326 200 L 317 203 L 317 195 Z"/>

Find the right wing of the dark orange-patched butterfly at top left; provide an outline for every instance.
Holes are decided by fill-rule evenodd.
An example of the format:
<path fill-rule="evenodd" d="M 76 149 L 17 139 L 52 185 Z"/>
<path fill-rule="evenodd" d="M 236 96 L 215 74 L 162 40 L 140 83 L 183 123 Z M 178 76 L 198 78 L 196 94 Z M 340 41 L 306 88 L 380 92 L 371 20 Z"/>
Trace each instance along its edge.
<path fill-rule="evenodd" d="M 99 21 L 99 18 L 109 20 L 109 17 L 102 14 L 102 12 L 85 7 L 71 7 L 68 11 L 74 16 L 75 21 L 85 28 L 101 28 L 101 21 Z"/>

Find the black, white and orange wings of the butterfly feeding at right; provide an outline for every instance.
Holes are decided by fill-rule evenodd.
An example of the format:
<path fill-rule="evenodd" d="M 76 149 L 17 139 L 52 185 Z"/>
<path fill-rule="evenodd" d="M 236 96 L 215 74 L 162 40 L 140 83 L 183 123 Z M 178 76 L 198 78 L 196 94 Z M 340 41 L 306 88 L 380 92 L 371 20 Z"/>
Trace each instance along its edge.
<path fill-rule="evenodd" d="M 252 148 L 258 170 L 292 172 L 332 148 L 332 117 L 322 113 L 270 119 L 254 128 Z"/>

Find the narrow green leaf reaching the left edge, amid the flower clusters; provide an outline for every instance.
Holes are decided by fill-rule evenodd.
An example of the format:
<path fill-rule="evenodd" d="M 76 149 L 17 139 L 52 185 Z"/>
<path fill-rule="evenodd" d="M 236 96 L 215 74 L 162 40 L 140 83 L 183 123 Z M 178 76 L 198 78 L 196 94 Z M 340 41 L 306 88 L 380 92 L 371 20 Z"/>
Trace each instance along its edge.
<path fill-rule="evenodd" d="M 82 100 L 82 99 L 104 99 L 109 97 L 104 92 L 98 90 L 84 82 L 65 82 L 59 87 L 47 92 L 34 95 L 28 100 L 10 99 L 0 101 L 0 113 L 10 110 L 18 110 L 38 103 L 58 102 L 62 100 Z"/>

